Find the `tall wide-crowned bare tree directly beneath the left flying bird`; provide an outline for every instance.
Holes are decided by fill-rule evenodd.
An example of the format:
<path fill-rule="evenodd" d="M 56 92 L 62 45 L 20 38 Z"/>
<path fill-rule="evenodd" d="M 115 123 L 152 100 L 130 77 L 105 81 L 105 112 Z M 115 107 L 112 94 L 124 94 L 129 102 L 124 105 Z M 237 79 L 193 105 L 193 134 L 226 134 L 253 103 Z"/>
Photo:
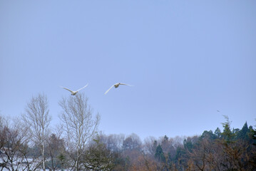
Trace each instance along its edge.
<path fill-rule="evenodd" d="M 63 98 L 59 105 L 63 109 L 60 118 L 67 138 L 69 155 L 73 160 L 72 170 L 79 170 L 86 145 L 97 133 L 100 115 L 97 114 L 96 118 L 93 118 L 88 98 L 82 93 Z"/>

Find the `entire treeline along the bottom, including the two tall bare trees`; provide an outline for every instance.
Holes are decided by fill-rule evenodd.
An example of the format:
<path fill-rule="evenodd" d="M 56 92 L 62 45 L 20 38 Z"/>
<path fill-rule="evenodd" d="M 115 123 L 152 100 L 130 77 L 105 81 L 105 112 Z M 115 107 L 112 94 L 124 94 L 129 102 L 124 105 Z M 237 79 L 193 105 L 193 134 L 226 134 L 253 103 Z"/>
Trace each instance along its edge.
<path fill-rule="evenodd" d="M 83 94 L 63 98 L 61 125 L 50 129 L 46 95 L 31 98 L 21 118 L 0 116 L 0 170 L 256 170 L 256 131 L 232 128 L 193 137 L 105 135 Z"/>

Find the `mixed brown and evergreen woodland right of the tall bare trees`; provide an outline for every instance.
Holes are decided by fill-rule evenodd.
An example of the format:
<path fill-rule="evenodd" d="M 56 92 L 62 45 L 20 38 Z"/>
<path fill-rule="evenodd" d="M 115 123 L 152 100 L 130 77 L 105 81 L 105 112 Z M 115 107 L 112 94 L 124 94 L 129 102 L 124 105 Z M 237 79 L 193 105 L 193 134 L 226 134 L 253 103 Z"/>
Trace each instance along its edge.
<path fill-rule="evenodd" d="M 147 138 L 132 134 L 101 135 L 102 145 L 118 157 L 113 170 L 256 170 L 256 132 L 247 123 L 231 128 L 225 116 L 223 130 L 205 130 L 188 138 Z"/>

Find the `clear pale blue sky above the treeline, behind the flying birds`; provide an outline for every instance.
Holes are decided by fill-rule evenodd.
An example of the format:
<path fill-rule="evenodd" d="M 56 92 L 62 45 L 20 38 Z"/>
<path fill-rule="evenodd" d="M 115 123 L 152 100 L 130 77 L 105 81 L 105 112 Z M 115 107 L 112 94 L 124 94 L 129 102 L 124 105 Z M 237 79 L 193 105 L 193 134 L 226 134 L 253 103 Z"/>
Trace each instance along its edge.
<path fill-rule="evenodd" d="M 141 139 L 256 125 L 256 1 L 0 1 L 0 114 L 81 90 L 99 130 Z M 114 83 L 130 86 L 112 88 Z M 220 112 L 217 112 L 219 110 Z M 254 127 L 255 128 L 255 127 Z"/>

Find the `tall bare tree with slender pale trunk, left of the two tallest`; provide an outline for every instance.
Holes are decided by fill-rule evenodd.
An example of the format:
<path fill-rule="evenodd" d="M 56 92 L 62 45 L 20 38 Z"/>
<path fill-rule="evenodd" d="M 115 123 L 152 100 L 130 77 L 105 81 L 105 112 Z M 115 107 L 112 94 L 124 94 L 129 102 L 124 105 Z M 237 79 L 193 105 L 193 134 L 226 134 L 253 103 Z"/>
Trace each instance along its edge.
<path fill-rule="evenodd" d="M 33 96 L 26 105 L 22 119 L 30 130 L 31 139 L 41 147 L 43 170 L 46 170 L 45 143 L 49 133 L 48 126 L 51 122 L 46 95 Z"/>

